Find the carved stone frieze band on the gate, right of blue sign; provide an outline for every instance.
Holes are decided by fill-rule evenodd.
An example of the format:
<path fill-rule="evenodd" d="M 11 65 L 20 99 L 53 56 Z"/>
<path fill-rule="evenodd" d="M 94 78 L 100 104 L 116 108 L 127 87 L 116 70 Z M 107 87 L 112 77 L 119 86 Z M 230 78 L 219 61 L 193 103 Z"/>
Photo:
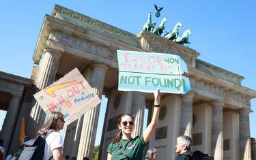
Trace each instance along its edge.
<path fill-rule="evenodd" d="M 250 97 L 242 95 L 242 93 L 234 92 L 231 89 L 225 89 L 223 86 L 217 86 L 216 84 L 206 82 L 204 80 L 197 80 L 190 77 L 190 84 L 193 88 L 200 89 L 202 91 L 208 91 L 209 93 L 232 99 L 238 103 L 244 103 L 245 106 L 250 105 Z"/>

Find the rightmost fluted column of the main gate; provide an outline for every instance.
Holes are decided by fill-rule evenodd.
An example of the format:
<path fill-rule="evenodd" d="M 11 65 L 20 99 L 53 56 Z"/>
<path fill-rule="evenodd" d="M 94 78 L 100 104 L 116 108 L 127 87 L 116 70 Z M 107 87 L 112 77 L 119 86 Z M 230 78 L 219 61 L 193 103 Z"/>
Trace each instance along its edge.
<path fill-rule="evenodd" d="M 250 137 L 250 124 L 249 108 L 242 108 L 239 111 L 239 131 L 240 131 L 240 159 L 251 160 L 251 137 Z"/>

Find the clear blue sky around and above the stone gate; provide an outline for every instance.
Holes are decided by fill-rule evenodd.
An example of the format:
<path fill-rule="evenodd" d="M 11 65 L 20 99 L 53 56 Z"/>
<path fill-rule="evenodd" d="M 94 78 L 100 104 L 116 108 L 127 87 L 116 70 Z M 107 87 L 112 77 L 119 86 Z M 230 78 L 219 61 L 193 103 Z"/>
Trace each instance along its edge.
<path fill-rule="evenodd" d="M 198 59 L 244 76 L 242 85 L 256 90 L 256 1 L 253 0 L 2 1 L 0 71 L 29 78 L 44 16 L 51 14 L 55 4 L 137 34 L 147 21 L 147 13 L 154 13 L 155 3 L 164 7 L 160 18 L 167 16 L 167 31 L 179 21 L 183 23 L 181 32 L 192 30 L 189 47 L 201 53 Z M 256 99 L 251 101 L 251 109 L 256 109 Z M 250 118 L 251 136 L 256 138 L 253 124 L 256 113 L 251 113 Z"/>

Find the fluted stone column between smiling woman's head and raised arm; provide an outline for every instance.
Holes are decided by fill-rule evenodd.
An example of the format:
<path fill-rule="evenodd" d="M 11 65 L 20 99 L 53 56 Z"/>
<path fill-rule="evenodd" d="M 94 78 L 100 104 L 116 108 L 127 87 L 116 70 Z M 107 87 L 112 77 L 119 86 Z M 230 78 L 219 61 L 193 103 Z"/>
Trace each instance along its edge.
<path fill-rule="evenodd" d="M 142 133 L 145 109 L 145 96 L 141 92 L 133 92 L 131 114 L 134 117 L 134 130 L 132 137 L 136 137 Z"/>

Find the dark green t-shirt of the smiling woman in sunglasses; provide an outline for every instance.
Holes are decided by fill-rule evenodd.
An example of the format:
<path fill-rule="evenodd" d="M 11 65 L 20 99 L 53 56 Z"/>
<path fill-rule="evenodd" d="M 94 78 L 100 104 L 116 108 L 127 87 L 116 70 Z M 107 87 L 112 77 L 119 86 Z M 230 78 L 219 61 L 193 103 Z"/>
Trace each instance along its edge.
<path fill-rule="evenodd" d="M 143 157 L 144 150 L 144 139 L 143 135 L 137 136 L 136 138 L 130 140 L 120 140 L 120 144 L 123 146 L 126 155 L 130 157 L 132 160 L 141 160 Z M 118 144 L 109 144 L 109 148 L 107 150 L 108 153 L 112 155 L 112 160 L 122 160 L 126 159 L 122 150 L 118 147 Z"/>

